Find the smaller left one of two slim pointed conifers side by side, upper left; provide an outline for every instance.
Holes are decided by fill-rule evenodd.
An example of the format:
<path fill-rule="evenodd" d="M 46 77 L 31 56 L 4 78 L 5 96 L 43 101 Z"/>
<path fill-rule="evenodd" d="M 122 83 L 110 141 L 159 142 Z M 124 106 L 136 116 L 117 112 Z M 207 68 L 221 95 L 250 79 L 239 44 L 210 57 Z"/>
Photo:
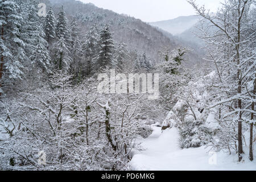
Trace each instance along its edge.
<path fill-rule="evenodd" d="M 50 43 L 51 40 L 55 38 L 55 16 L 52 7 L 50 7 L 47 13 L 46 22 L 44 23 L 44 31 L 46 33 L 46 40 Z"/>

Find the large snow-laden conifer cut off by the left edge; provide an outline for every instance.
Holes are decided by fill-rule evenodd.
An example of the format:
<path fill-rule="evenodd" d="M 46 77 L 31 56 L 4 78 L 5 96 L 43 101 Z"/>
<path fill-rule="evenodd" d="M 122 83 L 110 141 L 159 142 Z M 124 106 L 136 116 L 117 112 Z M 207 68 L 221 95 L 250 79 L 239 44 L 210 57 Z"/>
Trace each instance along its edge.
<path fill-rule="evenodd" d="M 22 60 L 26 55 L 24 42 L 20 39 L 19 28 L 22 23 L 22 16 L 18 13 L 18 5 L 14 1 L 0 0 L 0 96 L 2 82 L 9 78 L 21 78 Z M 3 77 L 5 76 L 5 77 Z"/>

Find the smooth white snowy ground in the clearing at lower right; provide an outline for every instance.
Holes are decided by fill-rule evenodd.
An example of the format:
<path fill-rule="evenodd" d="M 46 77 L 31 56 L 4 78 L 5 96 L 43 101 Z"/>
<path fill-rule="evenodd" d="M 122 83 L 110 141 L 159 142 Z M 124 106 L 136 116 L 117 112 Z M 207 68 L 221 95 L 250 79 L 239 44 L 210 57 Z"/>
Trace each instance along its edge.
<path fill-rule="evenodd" d="M 178 147 L 179 134 L 176 128 L 161 131 L 161 127 L 152 126 L 154 132 L 142 142 L 143 151 L 133 151 L 131 169 L 133 170 L 256 170 L 256 160 L 238 163 L 237 155 L 224 152 L 210 152 L 209 148 Z M 247 148 L 246 148 L 247 149 Z"/>

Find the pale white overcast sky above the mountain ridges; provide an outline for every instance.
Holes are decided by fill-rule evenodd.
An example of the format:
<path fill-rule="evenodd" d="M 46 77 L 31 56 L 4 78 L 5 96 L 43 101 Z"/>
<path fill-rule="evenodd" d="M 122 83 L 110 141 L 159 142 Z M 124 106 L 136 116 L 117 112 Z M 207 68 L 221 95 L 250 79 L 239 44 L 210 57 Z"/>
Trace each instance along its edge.
<path fill-rule="evenodd" d="M 98 7 L 113 10 L 119 14 L 127 14 L 144 22 L 174 19 L 178 16 L 194 15 L 195 11 L 186 0 L 80 0 L 93 3 Z M 214 12 L 221 0 L 196 0 Z"/>

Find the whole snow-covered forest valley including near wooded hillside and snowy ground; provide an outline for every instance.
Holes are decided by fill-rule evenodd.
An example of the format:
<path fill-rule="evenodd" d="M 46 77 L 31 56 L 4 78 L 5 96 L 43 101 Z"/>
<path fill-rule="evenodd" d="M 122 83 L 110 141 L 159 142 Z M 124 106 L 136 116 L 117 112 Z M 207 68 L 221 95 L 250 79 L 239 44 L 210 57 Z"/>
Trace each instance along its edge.
<path fill-rule="evenodd" d="M 255 170 L 256 1 L 188 3 L 191 40 L 91 3 L 0 0 L 0 171 Z M 98 92 L 113 69 L 138 90 L 159 74 L 159 98 L 121 78 Z"/>

